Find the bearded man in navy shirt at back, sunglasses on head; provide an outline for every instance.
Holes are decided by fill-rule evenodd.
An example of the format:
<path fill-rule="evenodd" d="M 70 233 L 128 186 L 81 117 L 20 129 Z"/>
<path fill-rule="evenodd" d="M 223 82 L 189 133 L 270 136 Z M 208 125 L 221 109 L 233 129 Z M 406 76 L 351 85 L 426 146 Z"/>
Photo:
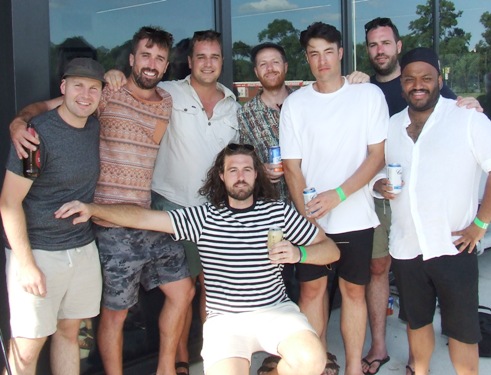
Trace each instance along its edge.
<path fill-rule="evenodd" d="M 401 95 L 401 67 L 399 54 L 402 51 L 402 40 L 397 26 L 387 17 L 377 17 L 365 24 L 365 41 L 370 64 L 375 74 L 370 82 L 377 85 L 384 93 L 389 115 L 402 111 L 406 101 Z M 457 96 L 443 84 L 440 94 L 445 98 L 455 99 Z M 479 102 L 472 97 L 458 98 L 457 105 L 478 108 Z M 383 189 L 387 180 L 375 184 L 376 191 Z M 390 228 L 390 204 L 386 199 L 375 199 L 375 211 L 380 225 L 375 229 L 373 253 L 371 261 L 371 279 L 367 286 L 368 317 L 372 342 L 369 351 L 363 358 L 363 370 L 375 374 L 388 361 L 389 355 L 385 343 L 387 300 L 389 298 L 390 255 L 388 238 Z M 411 356 L 408 370 L 413 365 Z"/>

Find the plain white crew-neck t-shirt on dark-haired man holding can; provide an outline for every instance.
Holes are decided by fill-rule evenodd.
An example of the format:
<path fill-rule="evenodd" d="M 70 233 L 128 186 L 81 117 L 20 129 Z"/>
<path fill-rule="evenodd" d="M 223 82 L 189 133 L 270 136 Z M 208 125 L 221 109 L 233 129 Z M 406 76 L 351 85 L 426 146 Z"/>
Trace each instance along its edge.
<path fill-rule="evenodd" d="M 283 159 L 301 159 L 307 187 L 335 189 L 367 156 L 368 145 L 383 142 L 389 114 L 382 91 L 372 84 L 350 85 L 323 94 L 312 85 L 291 94 L 280 117 Z M 376 227 L 373 197 L 364 186 L 318 220 L 326 233 Z"/>

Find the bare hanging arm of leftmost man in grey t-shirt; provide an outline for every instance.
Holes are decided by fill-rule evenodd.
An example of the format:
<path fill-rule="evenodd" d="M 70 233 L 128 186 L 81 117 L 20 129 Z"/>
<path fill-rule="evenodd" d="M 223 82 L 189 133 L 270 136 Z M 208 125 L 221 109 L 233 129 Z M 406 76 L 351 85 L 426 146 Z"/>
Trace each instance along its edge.
<path fill-rule="evenodd" d="M 18 265 L 18 282 L 26 292 L 44 297 L 46 278 L 32 255 L 26 216 L 22 207 L 22 201 L 31 185 L 31 180 L 7 171 L 0 196 L 0 212 L 12 255 Z"/>

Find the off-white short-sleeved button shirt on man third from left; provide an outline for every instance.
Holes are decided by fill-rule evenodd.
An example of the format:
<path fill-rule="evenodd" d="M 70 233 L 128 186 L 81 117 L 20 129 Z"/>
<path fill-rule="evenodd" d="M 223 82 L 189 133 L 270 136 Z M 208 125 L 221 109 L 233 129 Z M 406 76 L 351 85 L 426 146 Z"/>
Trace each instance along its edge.
<path fill-rule="evenodd" d="M 206 199 L 198 190 L 208 169 L 217 154 L 239 138 L 239 104 L 232 91 L 217 83 L 225 97 L 208 119 L 189 76 L 161 82 L 159 87 L 172 96 L 172 115 L 157 155 L 152 190 L 181 206 L 202 204 Z"/>

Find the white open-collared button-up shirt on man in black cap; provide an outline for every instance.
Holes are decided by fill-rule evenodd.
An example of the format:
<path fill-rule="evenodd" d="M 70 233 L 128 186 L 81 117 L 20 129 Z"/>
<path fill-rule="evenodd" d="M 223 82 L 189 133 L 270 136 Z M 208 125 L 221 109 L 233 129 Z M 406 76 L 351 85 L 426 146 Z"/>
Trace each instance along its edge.
<path fill-rule="evenodd" d="M 404 187 L 391 200 L 390 254 L 396 259 L 455 255 L 451 232 L 469 226 L 482 171 L 491 170 L 491 122 L 440 97 L 416 143 L 407 108 L 390 119 L 386 162 L 400 163 Z"/>

